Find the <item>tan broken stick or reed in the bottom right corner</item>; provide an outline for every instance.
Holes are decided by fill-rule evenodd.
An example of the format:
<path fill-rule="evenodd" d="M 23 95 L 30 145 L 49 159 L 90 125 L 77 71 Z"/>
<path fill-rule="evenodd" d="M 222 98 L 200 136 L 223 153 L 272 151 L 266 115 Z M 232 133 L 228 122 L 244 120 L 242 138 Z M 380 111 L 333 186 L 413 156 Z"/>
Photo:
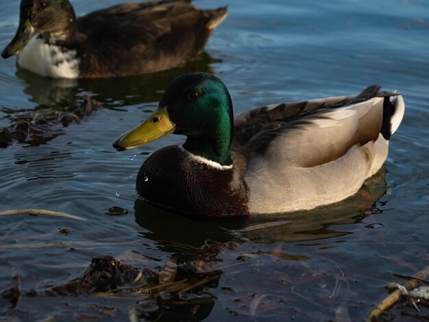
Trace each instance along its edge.
<path fill-rule="evenodd" d="M 408 280 L 402 285 L 399 285 L 400 288 L 395 290 L 391 295 L 386 297 L 381 301 L 376 308 L 373 308 L 371 312 L 369 312 L 367 319 L 365 321 L 371 322 L 371 321 L 378 321 L 378 317 L 380 317 L 380 314 L 385 312 L 387 309 L 391 308 L 391 306 L 395 305 L 397 301 L 400 300 L 402 296 L 405 294 L 408 294 L 410 291 L 414 290 L 421 284 L 421 280 L 424 280 L 426 277 L 429 276 L 429 266 L 425 267 L 423 270 L 419 271 L 415 275 L 415 277 L 412 277 L 411 280 Z"/>

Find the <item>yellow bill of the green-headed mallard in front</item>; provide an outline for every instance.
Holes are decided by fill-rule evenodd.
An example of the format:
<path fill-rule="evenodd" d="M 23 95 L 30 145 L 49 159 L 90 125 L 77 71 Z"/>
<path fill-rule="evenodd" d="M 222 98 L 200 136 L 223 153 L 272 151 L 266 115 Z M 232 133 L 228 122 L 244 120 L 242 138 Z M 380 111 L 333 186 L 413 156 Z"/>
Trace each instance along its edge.
<path fill-rule="evenodd" d="M 165 106 L 153 112 L 146 121 L 134 129 L 119 136 L 113 141 L 113 147 L 118 151 L 133 149 L 171 134 L 174 130 L 175 124 L 170 121 Z"/>

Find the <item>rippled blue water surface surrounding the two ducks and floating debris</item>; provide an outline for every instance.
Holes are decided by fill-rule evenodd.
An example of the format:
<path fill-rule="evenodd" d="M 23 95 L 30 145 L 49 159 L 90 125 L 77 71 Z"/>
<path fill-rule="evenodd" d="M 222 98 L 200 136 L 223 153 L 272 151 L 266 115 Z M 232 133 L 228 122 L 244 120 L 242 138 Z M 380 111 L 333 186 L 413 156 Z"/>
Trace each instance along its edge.
<path fill-rule="evenodd" d="M 123 1 L 71 2 L 80 15 Z M 49 209 L 86 219 L 1 216 L 0 291 L 14 285 L 12 277 L 19 273 L 23 290 L 40 293 L 82 275 L 97 255 L 123 258 L 138 251 L 153 259 L 144 267 L 159 271 L 173 254 L 185 256 L 210 243 L 234 240 L 236 248 L 213 255 L 220 277 L 206 292 L 215 297 L 214 305 L 204 306 L 204 313 L 197 310 L 194 320 L 340 321 L 341 311 L 362 321 L 387 295 L 386 284 L 403 282 L 393 273 L 414 275 L 429 263 L 428 1 L 195 4 L 228 4 L 230 14 L 211 36 L 208 56 L 183 69 L 125 79 L 53 80 L 17 71 L 14 58 L 0 61 L 0 126 L 8 123 L 4 116 L 11 111 L 69 106 L 84 93 L 104 106 L 44 145 L 15 143 L 0 149 L 0 211 Z M 19 1 L 1 1 L 1 48 L 14 35 L 18 15 Z M 112 140 L 156 108 L 173 77 L 194 70 L 214 73 L 225 82 L 235 112 L 355 94 L 381 84 L 404 95 L 406 114 L 391 138 L 384 169 L 350 199 L 240 223 L 186 219 L 148 206 L 134 188 L 145 158 L 183 138 L 169 136 L 122 153 L 112 149 Z M 113 206 L 130 213 L 106 214 Z M 291 222 L 236 231 L 277 219 Z M 62 227 L 70 233 L 60 234 Z M 79 305 L 99 305 L 97 300 L 78 297 L 66 304 L 56 297 L 23 297 L 14 311 L 0 299 L 0 317 L 35 321 L 58 314 L 79 319 Z M 119 309 L 117 319 L 127 319 L 127 308 L 136 305 L 103 301 L 103 306 Z M 100 321 L 108 318 L 86 310 Z"/>

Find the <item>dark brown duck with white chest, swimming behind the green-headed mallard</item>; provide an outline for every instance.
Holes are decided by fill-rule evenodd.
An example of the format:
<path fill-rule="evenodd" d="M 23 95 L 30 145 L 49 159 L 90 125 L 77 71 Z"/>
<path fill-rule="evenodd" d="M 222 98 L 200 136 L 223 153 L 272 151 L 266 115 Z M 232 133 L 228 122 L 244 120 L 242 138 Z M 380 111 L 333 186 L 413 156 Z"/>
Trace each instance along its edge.
<path fill-rule="evenodd" d="M 123 3 L 76 18 L 69 0 L 22 0 L 16 35 L 1 53 L 42 76 L 95 78 L 171 69 L 195 58 L 227 8 L 189 1 Z"/>

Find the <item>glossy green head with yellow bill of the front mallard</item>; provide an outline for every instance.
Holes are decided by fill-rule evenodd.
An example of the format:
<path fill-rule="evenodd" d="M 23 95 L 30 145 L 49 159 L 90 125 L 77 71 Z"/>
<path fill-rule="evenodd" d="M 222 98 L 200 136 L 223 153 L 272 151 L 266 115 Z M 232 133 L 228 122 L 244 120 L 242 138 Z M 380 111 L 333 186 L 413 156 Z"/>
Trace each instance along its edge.
<path fill-rule="evenodd" d="M 149 119 L 119 136 L 113 146 L 122 151 L 167 134 L 183 134 L 187 136 L 186 150 L 222 165 L 230 164 L 233 120 L 225 84 L 206 73 L 186 73 L 171 82 Z"/>

